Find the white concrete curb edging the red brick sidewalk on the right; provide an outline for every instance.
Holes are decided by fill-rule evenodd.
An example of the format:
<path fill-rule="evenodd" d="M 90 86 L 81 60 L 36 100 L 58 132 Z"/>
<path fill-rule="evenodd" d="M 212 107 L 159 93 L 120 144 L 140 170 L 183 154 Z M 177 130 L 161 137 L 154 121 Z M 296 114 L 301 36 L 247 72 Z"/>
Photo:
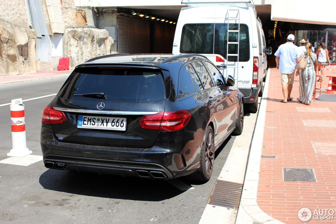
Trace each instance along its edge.
<path fill-rule="evenodd" d="M 266 104 L 269 83 L 269 69 L 265 87 L 260 102 L 258 118 L 254 129 L 254 134 L 251 142 L 250 153 L 248 157 L 243 192 L 238 209 L 236 224 L 280 224 L 280 222 L 271 216 L 267 215 L 260 209 L 257 203 L 260 160 L 262 151 L 262 140 L 264 136 Z"/>

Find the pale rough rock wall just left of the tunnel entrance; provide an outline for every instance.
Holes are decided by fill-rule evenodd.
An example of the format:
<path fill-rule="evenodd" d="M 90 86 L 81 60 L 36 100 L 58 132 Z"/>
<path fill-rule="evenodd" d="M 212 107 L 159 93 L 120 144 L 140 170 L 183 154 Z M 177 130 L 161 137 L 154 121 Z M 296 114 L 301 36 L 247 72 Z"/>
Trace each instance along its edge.
<path fill-rule="evenodd" d="M 68 28 L 63 36 L 64 57 L 70 57 L 70 69 L 90 58 L 110 54 L 114 43 L 107 30 Z"/>

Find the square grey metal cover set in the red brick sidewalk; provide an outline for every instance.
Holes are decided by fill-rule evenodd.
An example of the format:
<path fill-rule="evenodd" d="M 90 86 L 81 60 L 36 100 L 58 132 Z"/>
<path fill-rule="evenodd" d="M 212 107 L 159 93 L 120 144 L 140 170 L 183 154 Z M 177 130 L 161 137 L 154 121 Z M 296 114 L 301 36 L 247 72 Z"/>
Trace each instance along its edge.
<path fill-rule="evenodd" d="M 283 167 L 284 181 L 317 182 L 314 169 Z"/>

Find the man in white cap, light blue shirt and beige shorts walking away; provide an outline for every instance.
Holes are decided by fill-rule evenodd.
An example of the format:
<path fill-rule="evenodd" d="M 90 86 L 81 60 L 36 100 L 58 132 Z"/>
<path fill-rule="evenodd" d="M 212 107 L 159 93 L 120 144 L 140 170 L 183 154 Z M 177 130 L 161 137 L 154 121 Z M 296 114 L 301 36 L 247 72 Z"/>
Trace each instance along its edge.
<path fill-rule="evenodd" d="M 282 93 L 284 96 L 284 99 L 280 101 L 281 103 L 293 100 L 291 92 L 294 83 L 294 72 L 296 60 L 300 57 L 298 47 L 293 43 L 294 39 L 294 35 L 289 34 L 287 36 L 287 43 L 281 44 L 274 53 L 277 69 L 281 73 Z"/>

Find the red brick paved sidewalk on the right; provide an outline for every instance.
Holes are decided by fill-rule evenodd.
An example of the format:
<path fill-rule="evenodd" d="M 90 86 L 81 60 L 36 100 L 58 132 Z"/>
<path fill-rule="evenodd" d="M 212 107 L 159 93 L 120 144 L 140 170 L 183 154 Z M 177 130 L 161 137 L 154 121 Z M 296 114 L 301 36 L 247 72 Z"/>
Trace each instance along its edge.
<path fill-rule="evenodd" d="M 261 158 L 257 203 L 265 213 L 288 224 L 302 223 L 298 218 L 302 207 L 312 213 L 332 209 L 336 220 L 336 102 L 314 100 L 310 106 L 298 102 L 296 76 L 294 100 L 281 103 L 280 72 L 271 68 L 269 75 L 262 155 L 276 158 Z M 327 85 L 324 78 L 322 87 Z M 286 175 L 290 171 L 296 175 L 286 176 L 287 180 L 296 181 L 284 181 L 284 170 Z M 310 182 L 301 171 L 314 174 L 316 182 Z M 313 218 L 317 216 L 313 215 L 309 224 L 321 222 Z"/>

